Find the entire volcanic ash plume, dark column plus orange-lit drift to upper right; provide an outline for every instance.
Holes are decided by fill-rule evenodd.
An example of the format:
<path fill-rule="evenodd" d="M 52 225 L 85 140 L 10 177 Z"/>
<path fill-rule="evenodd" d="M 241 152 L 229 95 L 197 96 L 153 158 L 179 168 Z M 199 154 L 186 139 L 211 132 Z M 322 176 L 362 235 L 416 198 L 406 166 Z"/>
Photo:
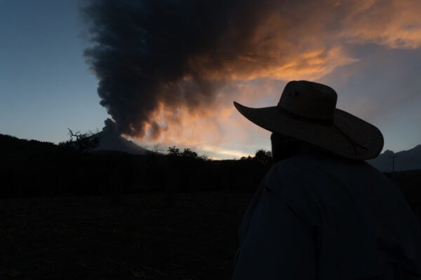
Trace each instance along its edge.
<path fill-rule="evenodd" d="M 239 92 L 227 89 L 238 83 L 314 80 L 355 62 L 348 40 L 394 48 L 382 20 L 391 17 L 377 15 L 394 2 L 89 1 L 81 9 L 92 43 L 84 55 L 119 133 L 154 141 L 187 119 L 208 118 L 216 104 L 232 106 Z M 369 32 L 377 23 L 381 38 Z M 414 38 L 401 45 L 419 45 Z"/>

